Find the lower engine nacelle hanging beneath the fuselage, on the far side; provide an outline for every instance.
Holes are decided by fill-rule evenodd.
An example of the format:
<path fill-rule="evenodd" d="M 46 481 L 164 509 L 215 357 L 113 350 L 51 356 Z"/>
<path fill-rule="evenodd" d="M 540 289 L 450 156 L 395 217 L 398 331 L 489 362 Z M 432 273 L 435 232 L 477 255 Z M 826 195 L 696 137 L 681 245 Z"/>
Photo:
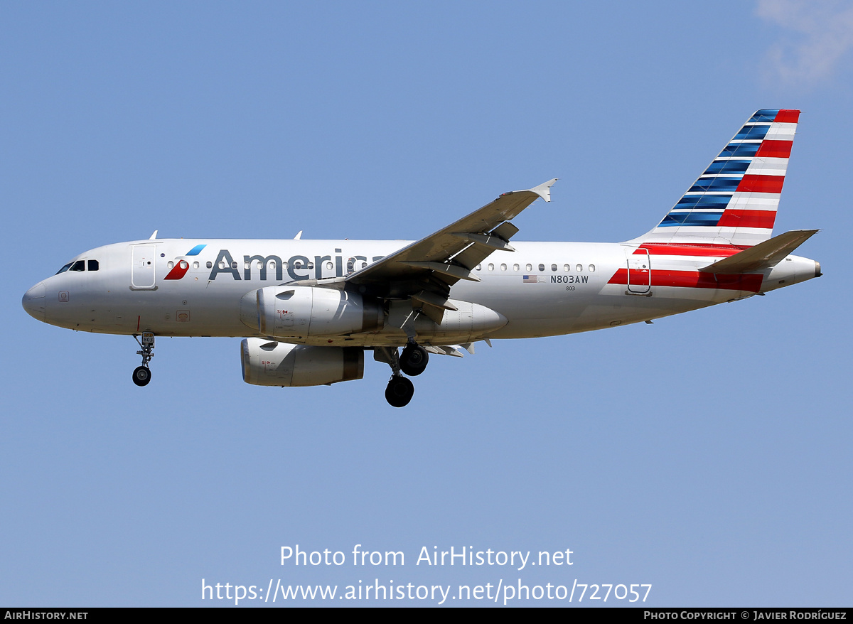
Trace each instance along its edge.
<path fill-rule="evenodd" d="M 337 384 L 364 376 L 364 351 L 356 347 L 310 347 L 246 338 L 240 345 L 240 363 L 243 381 L 255 385 Z"/>

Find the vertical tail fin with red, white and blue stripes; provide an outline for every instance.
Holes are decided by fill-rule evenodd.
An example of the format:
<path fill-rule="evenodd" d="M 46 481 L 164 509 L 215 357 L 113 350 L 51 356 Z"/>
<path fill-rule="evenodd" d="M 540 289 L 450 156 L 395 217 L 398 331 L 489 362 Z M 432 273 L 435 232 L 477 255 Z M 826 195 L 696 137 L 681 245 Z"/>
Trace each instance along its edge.
<path fill-rule="evenodd" d="M 799 111 L 757 111 L 646 243 L 754 246 L 773 234 Z"/>

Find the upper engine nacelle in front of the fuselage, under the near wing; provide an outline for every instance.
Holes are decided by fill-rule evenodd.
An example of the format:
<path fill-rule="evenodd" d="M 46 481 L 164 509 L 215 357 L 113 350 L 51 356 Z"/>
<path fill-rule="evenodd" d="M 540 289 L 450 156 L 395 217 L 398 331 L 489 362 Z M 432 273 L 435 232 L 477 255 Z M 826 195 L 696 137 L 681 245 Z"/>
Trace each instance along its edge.
<path fill-rule="evenodd" d="M 385 315 L 376 301 L 334 288 L 267 286 L 240 300 L 240 320 L 266 336 L 308 338 L 378 331 Z"/>

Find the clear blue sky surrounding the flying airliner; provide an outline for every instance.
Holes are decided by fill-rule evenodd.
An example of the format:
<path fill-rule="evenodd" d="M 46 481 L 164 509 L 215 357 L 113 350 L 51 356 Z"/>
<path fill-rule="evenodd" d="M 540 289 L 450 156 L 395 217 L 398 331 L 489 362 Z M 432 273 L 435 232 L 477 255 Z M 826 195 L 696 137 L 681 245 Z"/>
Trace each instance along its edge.
<path fill-rule="evenodd" d="M 3 3 L 0 604 L 519 578 L 849 604 L 851 46 L 834 2 Z M 154 229 L 416 239 L 554 176 L 518 240 L 630 239 L 763 107 L 803 110 L 775 231 L 821 228 L 799 251 L 821 280 L 435 357 L 404 410 L 369 360 L 244 384 L 237 339 L 160 339 L 141 390 L 132 338 L 20 307 Z M 281 566 L 297 544 L 406 564 Z M 422 546 L 574 565 L 430 569 Z"/>

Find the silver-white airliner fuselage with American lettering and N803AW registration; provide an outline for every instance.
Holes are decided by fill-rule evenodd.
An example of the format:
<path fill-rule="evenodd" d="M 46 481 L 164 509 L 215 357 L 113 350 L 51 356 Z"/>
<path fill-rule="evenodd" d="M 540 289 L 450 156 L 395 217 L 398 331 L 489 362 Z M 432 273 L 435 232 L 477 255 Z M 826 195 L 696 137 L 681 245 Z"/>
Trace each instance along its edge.
<path fill-rule="evenodd" d="M 24 296 L 24 307 L 51 325 L 87 332 L 158 336 L 261 337 L 241 322 L 241 298 L 265 286 L 340 277 L 409 245 L 405 240 L 138 240 L 98 247 Z M 194 255 L 188 255 L 195 251 Z M 635 243 L 518 242 L 496 251 L 461 280 L 450 299 L 476 303 L 507 322 L 490 332 L 450 335 L 425 330 L 424 344 L 481 338 L 534 338 L 649 321 L 750 297 L 820 274 L 789 256 L 737 283 L 715 284 L 699 269 L 718 257 L 649 255 Z M 96 270 L 90 270 L 96 260 Z M 185 264 L 183 264 L 185 263 Z M 711 280 L 711 282 L 709 282 Z M 632 283 L 633 282 L 633 283 Z M 398 308 L 398 309 L 397 309 Z M 400 326 L 411 304 L 386 310 L 379 331 L 300 338 L 317 345 L 405 344 Z M 399 316 L 399 319 L 397 318 Z M 399 321 L 399 322 L 397 322 Z"/>

